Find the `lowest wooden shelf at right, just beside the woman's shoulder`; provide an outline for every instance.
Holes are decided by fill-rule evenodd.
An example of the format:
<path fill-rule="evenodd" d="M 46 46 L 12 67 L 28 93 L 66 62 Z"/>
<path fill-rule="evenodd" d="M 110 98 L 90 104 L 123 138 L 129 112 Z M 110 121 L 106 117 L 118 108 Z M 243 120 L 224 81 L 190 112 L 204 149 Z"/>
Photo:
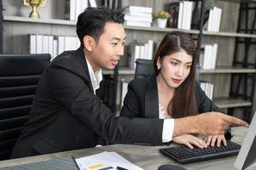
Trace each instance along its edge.
<path fill-rule="evenodd" d="M 231 108 L 231 107 L 244 107 L 252 105 L 252 102 L 246 101 L 244 99 L 238 98 L 229 98 L 229 97 L 221 97 L 213 99 L 214 103 L 220 108 Z"/>

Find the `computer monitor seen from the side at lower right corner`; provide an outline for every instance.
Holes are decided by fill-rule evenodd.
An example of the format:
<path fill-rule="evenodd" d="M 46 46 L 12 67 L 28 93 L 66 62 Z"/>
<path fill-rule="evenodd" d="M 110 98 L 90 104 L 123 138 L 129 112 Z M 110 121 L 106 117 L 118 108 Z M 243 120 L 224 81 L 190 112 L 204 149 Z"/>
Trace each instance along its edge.
<path fill-rule="evenodd" d="M 256 111 L 254 112 L 253 121 L 247 130 L 247 134 L 241 144 L 241 150 L 236 158 L 234 167 L 237 170 L 256 169 Z"/>

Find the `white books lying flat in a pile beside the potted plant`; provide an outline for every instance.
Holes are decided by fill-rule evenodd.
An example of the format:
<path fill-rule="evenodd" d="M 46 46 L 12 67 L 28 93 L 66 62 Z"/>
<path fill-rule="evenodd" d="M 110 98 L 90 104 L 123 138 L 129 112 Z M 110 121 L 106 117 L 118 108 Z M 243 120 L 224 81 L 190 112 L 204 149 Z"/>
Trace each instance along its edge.
<path fill-rule="evenodd" d="M 152 8 L 128 6 L 124 9 L 125 26 L 150 27 L 152 24 Z"/>

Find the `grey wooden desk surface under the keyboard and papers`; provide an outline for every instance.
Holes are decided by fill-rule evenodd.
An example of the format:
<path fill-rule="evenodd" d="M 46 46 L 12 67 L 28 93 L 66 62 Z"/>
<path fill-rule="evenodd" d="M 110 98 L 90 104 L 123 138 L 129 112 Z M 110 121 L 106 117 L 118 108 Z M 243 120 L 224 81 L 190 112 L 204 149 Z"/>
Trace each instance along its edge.
<path fill-rule="evenodd" d="M 244 138 L 247 132 L 247 128 L 245 127 L 233 127 L 232 133 L 234 137 L 232 141 L 241 144 L 242 139 Z M 8 161 L 0 161 L 0 169 L 12 169 L 15 166 L 24 166 L 26 164 L 37 164 L 42 161 L 54 161 L 55 158 L 63 157 L 69 160 L 71 165 L 73 166 L 74 162 L 71 159 L 71 156 L 80 157 L 80 156 L 90 156 L 92 154 L 100 153 L 102 151 L 115 151 L 119 153 L 120 156 L 125 157 L 127 160 L 131 161 L 132 163 L 136 164 L 139 167 L 147 170 L 156 170 L 160 165 L 163 164 L 176 164 L 180 165 L 175 161 L 172 161 L 165 156 L 162 156 L 159 152 L 160 148 L 165 148 L 166 146 L 141 146 L 141 145 L 132 145 L 132 144 L 113 144 L 108 146 L 90 148 L 90 149 L 83 149 L 83 150 L 72 150 L 66 152 L 59 152 L 54 154 L 48 154 L 43 156 L 31 156 L 19 159 L 13 159 Z M 62 161 L 63 161 L 62 159 Z M 57 159 L 60 160 L 60 159 Z M 205 170 L 231 170 L 234 169 L 233 165 L 236 161 L 236 156 L 216 159 L 212 161 L 201 161 L 200 163 L 190 163 L 186 165 L 182 165 L 186 167 L 188 170 L 198 170 L 198 169 L 205 169 Z M 49 164 L 49 163 L 48 163 Z M 8 168 L 4 168 L 8 167 Z M 15 169 L 15 168 L 14 168 Z M 19 169 L 19 168 L 17 168 Z M 47 168 L 45 168 L 47 169 Z M 65 168 L 61 168 L 65 169 Z M 76 169 L 76 167 L 74 167 Z"/>

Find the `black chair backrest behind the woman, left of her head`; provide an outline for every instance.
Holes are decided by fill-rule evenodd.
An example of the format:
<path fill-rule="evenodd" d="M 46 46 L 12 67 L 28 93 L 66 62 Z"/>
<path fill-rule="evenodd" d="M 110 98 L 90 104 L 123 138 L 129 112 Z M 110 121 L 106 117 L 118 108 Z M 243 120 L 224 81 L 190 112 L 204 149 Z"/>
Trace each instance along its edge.
<path fill-rule="evenodd" d="M 153 60 L 137 59 L 134 78 L 147 77 L 150 74 L 154 74 Z"/>

